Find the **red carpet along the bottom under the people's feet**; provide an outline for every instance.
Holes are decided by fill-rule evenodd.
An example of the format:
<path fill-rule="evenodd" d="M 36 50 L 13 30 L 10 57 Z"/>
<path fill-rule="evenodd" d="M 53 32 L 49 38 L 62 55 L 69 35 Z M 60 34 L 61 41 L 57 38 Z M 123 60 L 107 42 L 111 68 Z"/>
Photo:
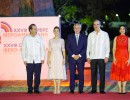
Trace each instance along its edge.
<path fill-rule="evenodd" d="M 41 94 L 26 94 L 25 92 L 0 92 L 0 100 L 128 100 L 130 93 L 125 95 L 117 93 L 106 94 L 69 94 L 63 92 L 61 94 L 54 95 L 51 92 L 42 92 Z"/>

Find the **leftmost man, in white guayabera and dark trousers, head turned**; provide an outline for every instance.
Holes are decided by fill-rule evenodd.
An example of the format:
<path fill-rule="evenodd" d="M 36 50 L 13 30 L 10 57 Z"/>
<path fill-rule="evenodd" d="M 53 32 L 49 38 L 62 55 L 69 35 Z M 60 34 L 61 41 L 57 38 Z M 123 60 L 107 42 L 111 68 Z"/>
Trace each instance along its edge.
<path fill-rule="evenodd" d="M 25 36 L 22 42 L 22 58 L 27 70 L 28 94 L 39 94 L 41 66 L 45 60 L 45 46 L 42 37 L 37 35 L 37 26 L 29 26 L 30 34 Z M 34 88 L 33 84 L 34 75 Z"/>

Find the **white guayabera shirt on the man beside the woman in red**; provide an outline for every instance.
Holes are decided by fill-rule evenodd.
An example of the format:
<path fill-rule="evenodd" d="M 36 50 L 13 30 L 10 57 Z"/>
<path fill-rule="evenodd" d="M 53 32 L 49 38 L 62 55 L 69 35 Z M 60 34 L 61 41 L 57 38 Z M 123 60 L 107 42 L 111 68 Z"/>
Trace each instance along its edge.
<path fill-rule="evenodd" d="M 108 33 L 100 30 L 98 35 L 95 31 L 88 36 L 87 58 L 104 59 L 109 57 L 110 40 Z"/>

